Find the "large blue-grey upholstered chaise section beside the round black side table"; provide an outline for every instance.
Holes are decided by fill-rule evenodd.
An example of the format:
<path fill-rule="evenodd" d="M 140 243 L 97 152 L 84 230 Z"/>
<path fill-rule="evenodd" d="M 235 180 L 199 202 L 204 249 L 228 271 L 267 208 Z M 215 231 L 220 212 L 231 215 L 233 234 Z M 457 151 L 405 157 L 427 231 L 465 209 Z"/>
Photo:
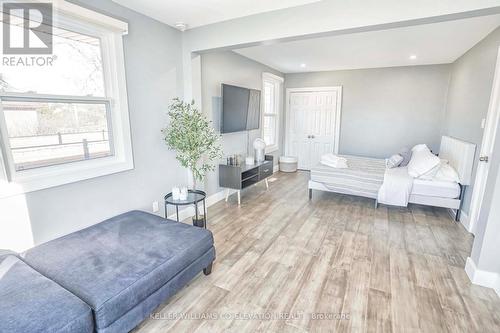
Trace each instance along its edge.
<path fill-rule="evenodd" d="M 106 333 L 133 329 L 199 272 L 210 274 L 214 259 L 210 231 L 140 211 L 23 254 L 25 263 L 85 302 L 94 330 Z"/>

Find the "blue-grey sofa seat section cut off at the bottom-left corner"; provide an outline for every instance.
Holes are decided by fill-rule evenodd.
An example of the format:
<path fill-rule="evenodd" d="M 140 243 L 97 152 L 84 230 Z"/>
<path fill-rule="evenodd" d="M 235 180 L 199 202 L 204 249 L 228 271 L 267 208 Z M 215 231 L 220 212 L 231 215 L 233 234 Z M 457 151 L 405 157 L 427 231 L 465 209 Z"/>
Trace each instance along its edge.
<path fill-rule="evenodd" d="M 90 307 L 16 255 L 0 250 L 0 332 L 91 333 Z"/>

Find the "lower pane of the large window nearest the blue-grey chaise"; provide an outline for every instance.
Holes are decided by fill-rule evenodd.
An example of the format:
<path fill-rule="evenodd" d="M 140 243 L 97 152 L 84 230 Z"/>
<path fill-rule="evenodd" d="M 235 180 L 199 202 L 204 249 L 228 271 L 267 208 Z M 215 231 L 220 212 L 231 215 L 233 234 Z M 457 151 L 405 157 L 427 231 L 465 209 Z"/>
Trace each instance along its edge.
<path fill-rule="evenodd" d="M 3 99 L 15 171 L 113 155 L 106 102 Z"/>

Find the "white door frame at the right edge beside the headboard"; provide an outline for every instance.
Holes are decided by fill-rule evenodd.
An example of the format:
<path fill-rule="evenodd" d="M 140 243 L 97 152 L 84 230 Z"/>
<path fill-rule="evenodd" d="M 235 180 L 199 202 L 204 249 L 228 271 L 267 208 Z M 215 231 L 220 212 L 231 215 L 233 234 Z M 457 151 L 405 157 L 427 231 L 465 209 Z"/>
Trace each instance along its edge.
<path fill-rule="evenodd" d="M 493 78 L 493 85 L 491 89 L 490 103 L 488 106 L 488 113 L 486 114 L 486 123 L 483 132 L 483 139 L 481 142 L 481 149 L 479 152 L 479 159 L 481 156 L 488 156 L 491 162 L 491 154 L 493 152 L 495 138 L 497 135 L 497 128 L 500 122 L 500 47 L 497 52 L 497 60 L 495 67 L 495 76 Z M 486 190 L 486 183 L 488 181 L 489 167 L 484 167 L 484 162 L 478 162 L 476 179 L 474 180 L 474 190 L 472 191 L 471 205 L 469 209 L 469 218 L 467 229 L 469 232 L 475 234 L 479 214 L 481 212 L 482 201 L 484 199 L 484 192 Z"/>

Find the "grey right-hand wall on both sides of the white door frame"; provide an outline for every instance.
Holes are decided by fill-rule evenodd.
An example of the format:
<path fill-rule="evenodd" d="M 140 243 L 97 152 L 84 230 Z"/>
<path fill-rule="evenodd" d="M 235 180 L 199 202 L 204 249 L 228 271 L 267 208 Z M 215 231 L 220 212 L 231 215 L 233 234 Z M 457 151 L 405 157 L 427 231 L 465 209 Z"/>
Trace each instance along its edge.
<path fill-rule="evenodd" d="M 478 151 L 483 136 L 480 124 L 488 113 L 499 46 L 500 28 L 460 57 L 452 68 L 444 132 L 477 144 Z M 500 124 L 497 124 L 497 133 L 499 131 Z M 474 174 L 476 167 L 477 158 Z M 472 189 L 465 197 L 466 212 L 470 208 Z M 499 242 L 500 136 L 497 135 L 471 253 L 472 261 L 479 270 L 500 274 Z"/>

